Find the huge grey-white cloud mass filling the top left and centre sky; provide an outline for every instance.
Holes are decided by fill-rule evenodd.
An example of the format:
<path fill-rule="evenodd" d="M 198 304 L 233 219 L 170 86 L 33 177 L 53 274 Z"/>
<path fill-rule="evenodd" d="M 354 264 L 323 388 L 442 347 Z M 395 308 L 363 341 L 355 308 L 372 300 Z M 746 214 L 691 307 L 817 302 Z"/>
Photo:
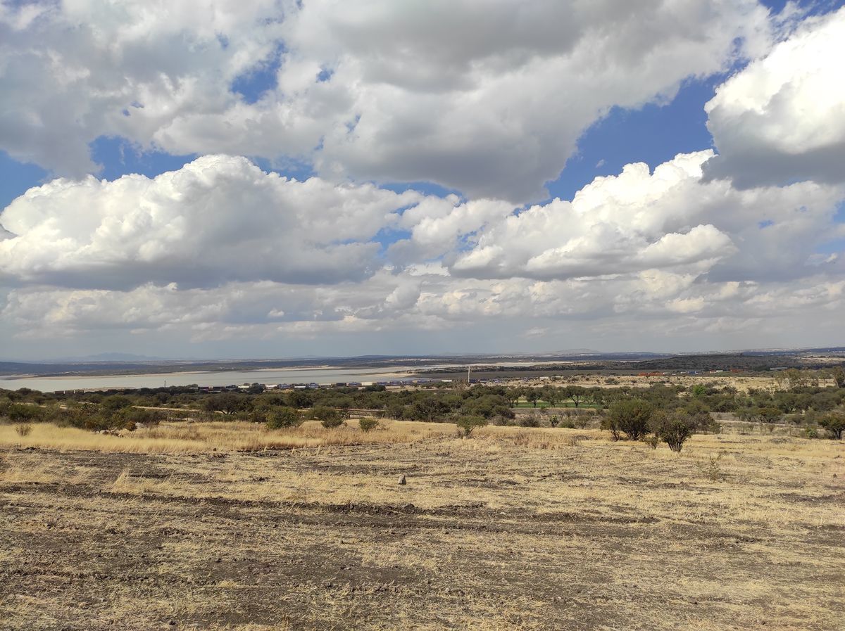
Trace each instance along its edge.
<path fill-rule="evenodd" d="M 768 40 L 754 0 L 4 3 L 0 148 L 77 177 L 118 136 L 525 202 L 611 107 Z M 232 86 L 257 68 L 275 85 L 250 102 Z"/>

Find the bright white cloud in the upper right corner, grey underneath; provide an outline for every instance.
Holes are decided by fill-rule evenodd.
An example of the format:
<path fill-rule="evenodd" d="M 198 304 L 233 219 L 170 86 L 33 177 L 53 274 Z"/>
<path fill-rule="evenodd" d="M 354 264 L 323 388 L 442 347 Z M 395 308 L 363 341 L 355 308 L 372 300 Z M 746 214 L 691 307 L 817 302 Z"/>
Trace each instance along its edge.
<path fill-rule="evenodd" d="M 706 104 L 719 155 L 708 178 L 750 188 L 845 182 L 845 8 L 805 19 Z"/>

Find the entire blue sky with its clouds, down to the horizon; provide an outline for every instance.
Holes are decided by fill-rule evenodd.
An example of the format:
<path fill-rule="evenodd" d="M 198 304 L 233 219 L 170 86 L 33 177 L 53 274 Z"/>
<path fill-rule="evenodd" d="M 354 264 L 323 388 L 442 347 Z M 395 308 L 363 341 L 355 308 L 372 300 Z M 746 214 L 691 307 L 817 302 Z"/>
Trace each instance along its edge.
<path fill-rule="evenodd" d="M 841 0 L 0 0 L 0 359 L 845 346 Z"/>

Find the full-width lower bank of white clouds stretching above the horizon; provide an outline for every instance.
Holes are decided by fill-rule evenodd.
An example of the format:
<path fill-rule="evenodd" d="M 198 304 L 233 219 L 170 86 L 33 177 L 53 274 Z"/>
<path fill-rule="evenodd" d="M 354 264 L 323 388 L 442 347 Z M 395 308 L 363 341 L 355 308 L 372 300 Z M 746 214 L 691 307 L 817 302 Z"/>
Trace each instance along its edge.
<path fill-rule="evenodd" d="M 194 342 L 487 327 L 515 345 L 574 331 L 601 348 L 630 326 L 642 340 L 799 335 L 807 321 L 834 334 L 845 271 L 818 250 L 845 236 L 845 189 L 738 191 L 701 181 L 711 155 L 628 164 L 518 212 L 289 180 L 230 156 L 154 179 L 52 181 L 0 215 L 0 325 Z M 406 236 L 384 248 L 384 231 Z"/>

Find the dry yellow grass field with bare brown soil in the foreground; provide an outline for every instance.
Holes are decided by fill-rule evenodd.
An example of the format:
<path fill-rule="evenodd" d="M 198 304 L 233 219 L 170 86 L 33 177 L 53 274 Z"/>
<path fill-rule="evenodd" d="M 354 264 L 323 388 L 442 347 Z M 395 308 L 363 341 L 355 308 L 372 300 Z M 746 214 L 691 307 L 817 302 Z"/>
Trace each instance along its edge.
<path fill-rule="evenodd" d="M 0 427 L 0 627 L 842 628 L 841 442 L 386 424 Z"/>

